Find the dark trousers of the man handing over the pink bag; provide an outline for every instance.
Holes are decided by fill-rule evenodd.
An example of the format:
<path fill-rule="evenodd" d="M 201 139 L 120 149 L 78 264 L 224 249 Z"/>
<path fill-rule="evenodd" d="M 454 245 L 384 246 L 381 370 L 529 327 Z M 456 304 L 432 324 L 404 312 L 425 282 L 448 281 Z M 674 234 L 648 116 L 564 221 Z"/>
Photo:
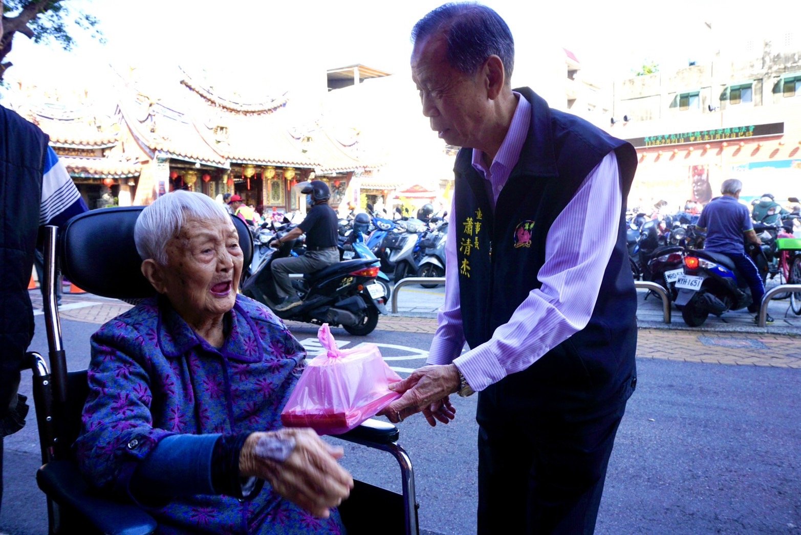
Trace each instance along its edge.
<path fill-rule="evenodd" d="M 478 533 L 499 523 L 508 533 L 593 533 L 634 384 L 610 403 L 560 408 L 530 395 L 533 368 L 479 393 Z"/>

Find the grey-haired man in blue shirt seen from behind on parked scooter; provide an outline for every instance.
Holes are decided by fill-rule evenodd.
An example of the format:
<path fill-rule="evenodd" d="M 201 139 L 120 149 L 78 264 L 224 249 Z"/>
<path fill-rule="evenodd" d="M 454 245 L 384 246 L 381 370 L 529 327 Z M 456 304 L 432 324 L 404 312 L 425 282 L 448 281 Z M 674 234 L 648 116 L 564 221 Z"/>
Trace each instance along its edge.
<path fill-rule="evenodd" d="M 762 245 L 762 240 L 754 231 L 748 208 L 739 202 L 742 190 L 743 183 L 738 179 L 724 180 L 720 187 L 723 195 L 712 199 L 704 207 L 695 230 L 706 232 L 706 241 L 703 245 L 705 251 L 727 255 L 735 263 L 737 271 L 745 277 L 748 287 L 751 288 L 753 302 L 749 305 L 748 312 L 759 312 L 765 295 L 765 286 L 762 277 L 759 276 L 759 269 L 746 254 L 743 238 L 758 247 Z M 755 316 L 754 321 L 759 321 L 759 316 Z M 773 323 L 770 314 L 766 316 L 766 323 Z"/>

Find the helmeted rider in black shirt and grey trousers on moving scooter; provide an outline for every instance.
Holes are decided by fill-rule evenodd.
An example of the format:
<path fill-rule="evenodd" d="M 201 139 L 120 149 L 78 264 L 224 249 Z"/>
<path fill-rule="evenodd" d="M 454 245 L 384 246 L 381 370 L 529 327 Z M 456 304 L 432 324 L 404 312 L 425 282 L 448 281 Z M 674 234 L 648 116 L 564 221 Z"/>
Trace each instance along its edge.
<path fill-rule="evenodd" d="M 306 253 L 301 256 L 289 256 L 275 259 L 272 262 L 272 276 L 276 281 L 276 293 L 280 301 L 276 303 L 276 310 L 283 312 L 300 305 L 300 300 L 292 281 L 290 273 L 312 273 L 332 263 L 340 261 L 340 253 L 336 248 L 336 230 L 338 221 L 336 212 L 328 206 L 331 191 L 328 185 L 320 180 L 312 180 L 304 186 L 300 193 L 308 195 L 308 212 L 300 224 L 281 236 L 273 239 L 270 247 L 280 247 L 282 243 L 291 241 L 306 233 Z"/>

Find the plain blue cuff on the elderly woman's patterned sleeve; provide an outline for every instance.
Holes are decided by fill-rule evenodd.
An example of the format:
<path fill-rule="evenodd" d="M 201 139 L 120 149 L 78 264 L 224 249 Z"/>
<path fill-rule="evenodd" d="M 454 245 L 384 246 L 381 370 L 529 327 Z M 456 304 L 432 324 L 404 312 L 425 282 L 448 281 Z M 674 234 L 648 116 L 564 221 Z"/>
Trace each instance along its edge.
<path fill-rule="evenodd" d="M 159 441 L 131 477 L 136 497 L 215 494 L 211 456 L 219 434 L 171 435 Z"/>

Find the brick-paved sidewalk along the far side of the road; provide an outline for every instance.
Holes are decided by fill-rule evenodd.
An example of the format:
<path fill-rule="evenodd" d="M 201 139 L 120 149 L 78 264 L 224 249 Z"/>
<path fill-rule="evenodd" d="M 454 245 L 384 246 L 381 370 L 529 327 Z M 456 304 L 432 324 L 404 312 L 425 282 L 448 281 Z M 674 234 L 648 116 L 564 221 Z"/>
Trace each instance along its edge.
<path fill-rule="evenodd" d="M 34 309 L 41 310 L 42 296 L 38 290 L 30 291 Z M 642 300 L 642 296 L 639 297 Z M 707 364 L 735 364 L 740 366 L 774 366 L 779 368 L 801 368 L 801 318 L 793 316 L 787 326 L 774 325 L 759 329 L 752 321 L 752 315 L 736 312 L 727 315 L 727 323 L 711 317 L 702 328 L 690 329 L 684 325 L 680 314 L 674 313 L 674 323 L 662 323 L 662 305 L 658 298 L 649 297 L 646 303 L 653 307 L 638 309 L 637 356 L 640 359 L 683 360 Z M 779 301 L 778 303 L 783 303 Z M 777 304 L 778 304 L 777 303 Z M 786 302 L 784 302 L 786 303 Z M 771 314 L 779 324 L 779 313 L 774 312 L 776 304 L 771 304 Z M 787 307 L 788 304 L 784 304 Z M 60 316 L 64 320 L 103 324 L 114 316 L 131 308 L 130 304 L 119 300 L 106 299 L 90 294 L 64 294 Z M 647 312 L 645 312 L 647 310 Z M 676 312 L 675 310 L 673 312 Z M 434 312 L 398 313 L 381 316 L 378 331 L 419 332 L 433 334 L 437 330 Z M 287 322 L 290 329 L 308 327 L 294 321 Z M 779 332 L 779 331 L 791 331 Z"/>

